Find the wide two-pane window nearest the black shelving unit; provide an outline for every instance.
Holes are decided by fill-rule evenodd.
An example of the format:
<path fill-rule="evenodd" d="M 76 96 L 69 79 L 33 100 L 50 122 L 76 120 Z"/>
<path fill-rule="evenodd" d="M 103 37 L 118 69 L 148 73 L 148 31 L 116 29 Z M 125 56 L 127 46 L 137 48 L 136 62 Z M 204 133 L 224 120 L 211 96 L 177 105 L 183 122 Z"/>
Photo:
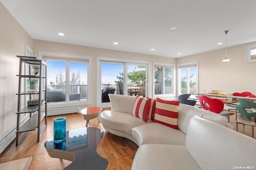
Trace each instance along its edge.
<path fill-rule="evenodd" d="M 90 103 L 90 57 L 41 51 L 39 57 L 47 64 L 48 103 Z"/>

